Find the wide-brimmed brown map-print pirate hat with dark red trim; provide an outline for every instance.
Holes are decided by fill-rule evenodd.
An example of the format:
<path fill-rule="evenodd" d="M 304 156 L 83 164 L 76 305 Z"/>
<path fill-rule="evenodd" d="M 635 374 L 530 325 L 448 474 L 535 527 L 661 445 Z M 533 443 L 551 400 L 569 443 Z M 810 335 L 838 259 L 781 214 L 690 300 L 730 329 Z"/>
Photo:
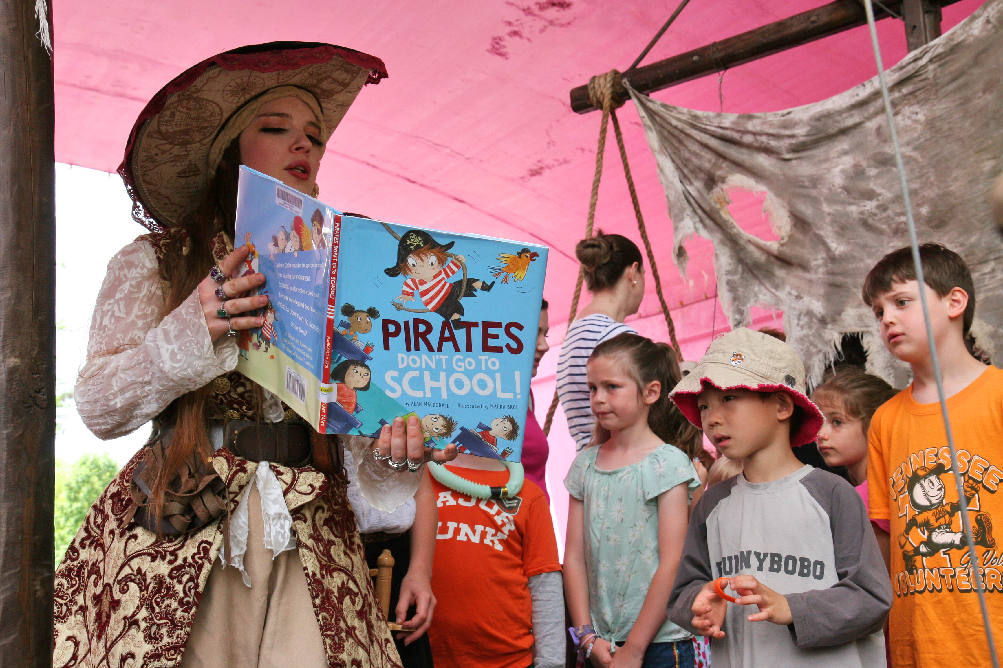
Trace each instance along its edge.
<path fill-rule="evenodd" d="M 362 86 L 386 76 L 379 58 L 320 42 L 244 46 L 189 68 L 153 96 L 129 133 L 118 173 L 132 217 L 154 231 L 176 226 L 215 172 L 218 135 L 249 102 L 279 87 L 301 89 L 330 136 Z"/>

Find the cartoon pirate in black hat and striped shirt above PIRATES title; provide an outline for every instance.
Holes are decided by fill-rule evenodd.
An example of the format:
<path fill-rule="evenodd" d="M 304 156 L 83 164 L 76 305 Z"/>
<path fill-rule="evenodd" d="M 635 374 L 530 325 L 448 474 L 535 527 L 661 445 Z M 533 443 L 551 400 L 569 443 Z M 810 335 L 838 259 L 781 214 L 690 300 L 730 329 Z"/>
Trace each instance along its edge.
<path fill-rule="evenodd" d="M 467 277 L 463 287 L 462 280 L 451 283 L 446 280 L 455 275 L 466 261 L 462 255 L 450 258 L 446 254 L 452 244 L 453 241 L 449 241 L 443 245 L 428 232 L 418 229 L 404 232 L 397 241 L 397 263 L 383 269 L 388 276 L 403 274 L 406 278 L 400 296 L 394 297 L 394 301 L 400 304 L 413 301 L 417 292 L 425 308 L 447 320 L 458 320 L 463 315 L 463 304 L 459 302 L 462 297 L 476 296 L 477 290 L 489 292 L 494 281 L 485 283 L 478 278 Z"/>

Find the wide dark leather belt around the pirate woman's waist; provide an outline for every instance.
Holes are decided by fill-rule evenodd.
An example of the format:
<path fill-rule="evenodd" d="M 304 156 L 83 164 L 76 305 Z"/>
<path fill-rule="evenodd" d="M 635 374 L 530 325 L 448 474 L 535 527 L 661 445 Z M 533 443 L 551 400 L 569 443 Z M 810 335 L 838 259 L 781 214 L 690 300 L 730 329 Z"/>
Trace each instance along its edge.
<path fill-rule="evenodd" d="M 213 426 L 214 428 L 217 425 Z M 281 466 L 305 467 L 312 461 L 311 429 L 307 425 L 256 423 L 230 420 L 226 423 L 220 445 L 249 462 L 272 462 Z M 210 429 L 214 449 L 218 429 Z"/>

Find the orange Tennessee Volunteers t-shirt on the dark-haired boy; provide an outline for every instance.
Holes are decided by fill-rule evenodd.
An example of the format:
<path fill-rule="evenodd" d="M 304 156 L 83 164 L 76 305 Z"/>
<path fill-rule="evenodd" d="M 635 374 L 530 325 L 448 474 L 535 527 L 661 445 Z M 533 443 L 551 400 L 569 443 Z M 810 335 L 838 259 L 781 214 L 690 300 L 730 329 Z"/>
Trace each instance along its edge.
<path fill-rule="evenodd" d="M 987 368 L 947 407 L 998 643 L 1003 546 L 993 521 L 1003 520 L 1003 371 Z M 891 525 L 893 665 L 990 665 L 940 404 L 918 404 L 907 388 L 875 413 L 868 441 L 871 519 Z"/>

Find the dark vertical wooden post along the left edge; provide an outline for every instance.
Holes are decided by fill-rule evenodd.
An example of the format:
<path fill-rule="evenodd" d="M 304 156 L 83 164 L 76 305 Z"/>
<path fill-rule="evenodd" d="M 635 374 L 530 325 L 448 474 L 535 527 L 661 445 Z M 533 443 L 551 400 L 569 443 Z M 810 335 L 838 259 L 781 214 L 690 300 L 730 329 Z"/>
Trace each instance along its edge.
<path fill-rule="evenodd" d="M 0 0 L 0 667 L 52 665 L 55 169 L 48 3 Z"/>

